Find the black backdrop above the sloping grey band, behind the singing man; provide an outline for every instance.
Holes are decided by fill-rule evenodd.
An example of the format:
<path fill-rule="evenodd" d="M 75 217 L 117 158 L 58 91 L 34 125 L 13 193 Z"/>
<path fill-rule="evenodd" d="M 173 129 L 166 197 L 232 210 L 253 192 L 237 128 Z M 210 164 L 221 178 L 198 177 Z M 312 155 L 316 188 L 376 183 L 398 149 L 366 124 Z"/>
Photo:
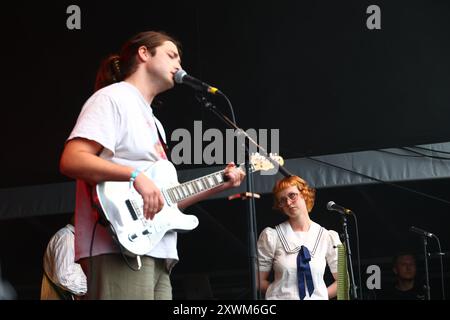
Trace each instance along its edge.
<path fill-rule="evenodd" d="M 450 5 L 381 1 L 78 1 L 10 4 L 3 10 L 0 187 L 66 181 L 58 159 L 102 57 L 142 30 L 183 44 L 183 67 L 219 87 L 244 128 L 280 129 L 285 158 L 450 140 Z M 223 129 L 189 88 L 162 95 L 170 134 Z M 228 112 L 223 100 L 214 100 Z"/>

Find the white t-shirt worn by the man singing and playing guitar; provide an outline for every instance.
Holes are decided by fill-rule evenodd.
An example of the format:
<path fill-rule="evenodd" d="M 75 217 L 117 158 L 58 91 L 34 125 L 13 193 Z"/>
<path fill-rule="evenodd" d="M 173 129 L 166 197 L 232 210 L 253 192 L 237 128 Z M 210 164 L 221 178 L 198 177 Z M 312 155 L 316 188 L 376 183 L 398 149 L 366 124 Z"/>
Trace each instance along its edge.
<path fill-rule="evenodd" d="M 101 144 L 100 157 L 111 162 L 145 170 L 158 160 L 167 159 L 157 127 L 165 141 L 161 123 L 153 115 L 141 92 L 128 82 L 109 85 L 95 92 L 84 104 L 68 140 L 86 138 Z M 90 256 L 92 231 L 97 220 L 92 207 L 91 187 L 77 181 L 76 259 Z M 178 260 L 177 234 L 169 231 L 147 255 Z M 92 256 L 119 252 L 109 231 L 98 225 Z"/>

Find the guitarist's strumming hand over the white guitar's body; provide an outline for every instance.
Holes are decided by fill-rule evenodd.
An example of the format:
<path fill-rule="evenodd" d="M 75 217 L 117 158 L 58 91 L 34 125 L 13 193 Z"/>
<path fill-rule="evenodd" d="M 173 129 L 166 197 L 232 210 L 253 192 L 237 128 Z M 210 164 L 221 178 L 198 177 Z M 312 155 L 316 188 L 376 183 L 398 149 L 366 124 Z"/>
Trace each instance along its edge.
<path fill-rule="evenodd" d="M 134 180 L 134 188 L 144 200 L 144 216 L 152 220 L 164 206 L 164 199 L 159 188 L 145 174 L 140 173 Z"/>

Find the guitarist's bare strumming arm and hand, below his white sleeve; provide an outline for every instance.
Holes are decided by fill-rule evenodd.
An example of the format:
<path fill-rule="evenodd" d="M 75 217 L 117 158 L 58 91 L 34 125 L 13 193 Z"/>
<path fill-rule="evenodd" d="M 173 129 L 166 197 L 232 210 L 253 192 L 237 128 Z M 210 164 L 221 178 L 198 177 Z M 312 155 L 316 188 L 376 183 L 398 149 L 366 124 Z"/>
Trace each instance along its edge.
<path fill-rule="evenodd" d="M 135 168 L 119 165 L 100 158 L 103 146 L 77 138 L 70 140 L 63 151 L 60 170 L 64 175 L 84 180 L 91 185 L 102 181 L 128 181 Z M 144 215 L 153 219 L 161 211 L 164 200 L 156 185 L 144 174 L 139 174 L 134 187 L 144 200 Z"/>

